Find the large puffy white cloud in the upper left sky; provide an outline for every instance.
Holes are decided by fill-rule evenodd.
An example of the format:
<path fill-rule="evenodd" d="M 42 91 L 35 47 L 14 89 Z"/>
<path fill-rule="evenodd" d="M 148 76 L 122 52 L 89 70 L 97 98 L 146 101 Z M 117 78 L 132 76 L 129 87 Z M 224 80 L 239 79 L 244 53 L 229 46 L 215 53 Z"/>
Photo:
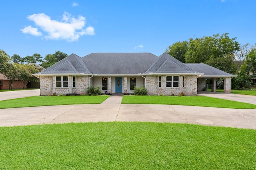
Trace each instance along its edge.
<path fill-rule="evenodd" d="M 83 16 L 78 16 L 78 18 L 72 17 L 68 12 L 64 12 L 62 15 L 62 21 L 51 20 L 50 16 L 46 14 L 33 14 L 27 17 L 28 20 L 34 21 L 39 29 L 42 29 L 46 35 L 46 39 L 66 39 L 68 41 L 76 41 L 82 35 L 95 35 L 94 28 L 88 26 L 84 29 L 86 19 Z M 23 31 L 23 30 L 33 30 Z M 22 29 L 23 33 L 29 33 L 31 35 L 38 35 L 40 32 L 37 28 L 32 28 L 31 26 Z M 37 35 L 37 36 L 38 36 Z"/>

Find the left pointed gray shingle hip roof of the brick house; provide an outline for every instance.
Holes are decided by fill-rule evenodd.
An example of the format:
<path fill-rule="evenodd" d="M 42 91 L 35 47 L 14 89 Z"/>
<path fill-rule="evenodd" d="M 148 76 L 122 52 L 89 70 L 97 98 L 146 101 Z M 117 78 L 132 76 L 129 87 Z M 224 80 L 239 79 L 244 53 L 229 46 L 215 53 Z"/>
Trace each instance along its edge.
<path fill-rule="evenodd" d="M 81 57 L 71 54 L 68 57 L 62 59 L 58 63 L 53 64 L 49 68 L 46 68 L 41 74 L 91 74 L 87 66 L 82 61 Z"/>

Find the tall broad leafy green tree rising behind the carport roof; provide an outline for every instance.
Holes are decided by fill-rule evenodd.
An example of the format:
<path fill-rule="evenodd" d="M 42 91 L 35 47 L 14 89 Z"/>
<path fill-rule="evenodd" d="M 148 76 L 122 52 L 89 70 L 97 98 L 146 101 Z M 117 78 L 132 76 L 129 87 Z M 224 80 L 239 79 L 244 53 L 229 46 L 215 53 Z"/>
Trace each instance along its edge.
<path fill-rule="evenodd" d="M 205 63 L 209 59 L 234 55 L 239 48 L 236 38 L 230 38 L 228 33 L 214 34 L 212 37 L 190 38 L 186 63 Z"/>

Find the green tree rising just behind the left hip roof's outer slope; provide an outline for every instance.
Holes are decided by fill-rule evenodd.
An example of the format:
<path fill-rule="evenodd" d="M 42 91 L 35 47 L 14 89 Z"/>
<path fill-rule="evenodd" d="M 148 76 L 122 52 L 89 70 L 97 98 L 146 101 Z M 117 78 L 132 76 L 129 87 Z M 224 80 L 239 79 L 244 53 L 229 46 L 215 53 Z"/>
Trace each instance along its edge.
<path fill-rule="evenodd" d="M 56 51 L 54 54 L 47 54 L 44 57 L 44 61 L 42 62 L 41 66 L 48 68 L 66 57 L 68 57 L 68 55 L 60 51 Z"/>

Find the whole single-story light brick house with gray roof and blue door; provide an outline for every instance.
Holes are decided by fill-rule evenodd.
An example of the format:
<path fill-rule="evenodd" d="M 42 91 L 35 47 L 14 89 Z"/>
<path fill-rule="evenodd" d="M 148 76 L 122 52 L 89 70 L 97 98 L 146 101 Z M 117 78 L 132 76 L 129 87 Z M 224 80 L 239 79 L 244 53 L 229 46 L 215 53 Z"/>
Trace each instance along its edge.
<path fill-rule="evenodd" d="M 33 75 L 40 78 L 41 95 L 86 94 L 89 86 L 100 86 L 102 93 L 133 93 L 134 86 L 142 85 L 151 95 L 197 95 L 201 88 L 198 78 L 206 76 L 224 77 L 225 92 L 230 93 L 234 75 L 202 66 L 206 70 L 197 68 L 201 64 L 181 63 L 167 53 L 160 57 L 151 53 L 92 53 L 82 58 L 71 54 Z"/>

